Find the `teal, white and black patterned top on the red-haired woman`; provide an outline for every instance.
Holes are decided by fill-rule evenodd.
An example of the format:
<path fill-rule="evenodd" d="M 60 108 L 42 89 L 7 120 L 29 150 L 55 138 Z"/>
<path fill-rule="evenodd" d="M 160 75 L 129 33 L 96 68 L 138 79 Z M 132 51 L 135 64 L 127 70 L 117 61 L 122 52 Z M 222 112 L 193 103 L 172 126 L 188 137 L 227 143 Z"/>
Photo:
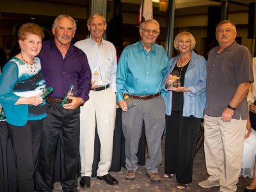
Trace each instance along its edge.
<path fill-rule="evenodd" d="M 0 76 L 0 103 L 3 105 L 8 124 L 23 126 L 28 120 L 41 120 L 46 116 L 45 100 L 40 106 L 15 105 L 20 97 L 32 97 L 45 88 L 39 58 L 28 65 L 13 57 L 4 65 Z"/>

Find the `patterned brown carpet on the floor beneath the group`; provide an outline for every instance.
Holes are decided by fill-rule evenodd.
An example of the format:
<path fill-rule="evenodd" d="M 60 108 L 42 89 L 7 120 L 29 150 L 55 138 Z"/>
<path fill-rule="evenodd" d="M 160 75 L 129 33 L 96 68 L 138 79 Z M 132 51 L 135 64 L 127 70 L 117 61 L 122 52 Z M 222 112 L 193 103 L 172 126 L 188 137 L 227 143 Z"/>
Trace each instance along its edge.
<path fill-rule="evenodd" d="M 164 146 L 164 138 L 162 142 L 162 146 Z M 164 150 L 164 148 L 163 148 Z M 176 188 L 176 180 L 175 176 L 172 179 L 165 179 L 163 177 L 164 174 L 164 164 L 159 168 L 159 175 L 161 175 L 162 180 L 159 183 L 152 183 L 150 179 L 145 174 L 144 166 L 140 166 L 138 172 L 136 174 L 135 180 L 125 180 L 125 168 L 122 168 L 120 172 L 111 172 L 111 175 L 118 180 L 119 184 L 117 186 L 109 186 L 103 180 L 98 180 L 96 178 L 91 179 L 91 188 L 90 189 L 81 189 L 79 186 L 77 189 L 79 191 L 100 191 L 100 192 L 120 192 L 120 191 L 182 191 Z M 201 147 L 196 154 L 194 167 L 193 167 L 193 182 L 188 185 L 188 188 L 183 191 L 195 191 L 195 192 L 215 192 L 218 191 L 218 187 L 214 187 L 211 189 L 204 189 L 198 186 L 198 182 L 207 179 L 208 175 L 205 168 L 205 158 L 204 158 L 204 148 Z M 80 179 L 80 178 L 79 178 Z M 248 178 L 239 178 L 239 183 L 237 184 L 237 191 L 243 192 L 244 188 L 250 183 L 250 179 Z M 54 184 L 54 192 L 60 192 L 61 185 L 60 183 Z"/>

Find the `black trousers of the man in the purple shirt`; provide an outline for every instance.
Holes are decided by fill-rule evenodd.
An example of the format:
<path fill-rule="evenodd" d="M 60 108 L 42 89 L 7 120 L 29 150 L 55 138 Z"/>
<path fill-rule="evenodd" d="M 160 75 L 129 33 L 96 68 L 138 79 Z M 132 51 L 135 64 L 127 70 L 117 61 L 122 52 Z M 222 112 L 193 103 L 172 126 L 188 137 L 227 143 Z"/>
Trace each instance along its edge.
<path fill-rule="evenodd" d="M 42 141 L 36 171 L 37 191 L 52 191 L 52 163 L 60 135 L 63 148 L 63 190 L 77 187 L 77 168 L 79 164 L 80 108 L 64 109 L 61 104 L 47 102 L 47 118 L 43 121 Z"/>

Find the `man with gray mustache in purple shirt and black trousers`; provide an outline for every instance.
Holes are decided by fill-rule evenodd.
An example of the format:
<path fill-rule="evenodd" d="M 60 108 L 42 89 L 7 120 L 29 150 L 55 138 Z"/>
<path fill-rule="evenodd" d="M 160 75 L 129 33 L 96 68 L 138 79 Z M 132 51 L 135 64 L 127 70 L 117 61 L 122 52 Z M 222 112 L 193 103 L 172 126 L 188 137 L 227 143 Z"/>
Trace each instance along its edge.
<path fill-rule="evenodd" d="M 47 87 L 53 92 L 47 97 L 47 118 L 43 123 L 38 159 L 38 191 L 52 191 L 52 159 L 62 135 L 64 173 L 63 191 L 77 191 L 79 163 L 79 113 L 88 100 L 91 70 L 86 54 L 70 42 L 75 35 L 76 22 L 68 15 L 59 15 L 53 23 L 54 40 L 44 42 L 39 58 Z M 68 88 L 74 86 L 74 97 L 61 106 Z"/>

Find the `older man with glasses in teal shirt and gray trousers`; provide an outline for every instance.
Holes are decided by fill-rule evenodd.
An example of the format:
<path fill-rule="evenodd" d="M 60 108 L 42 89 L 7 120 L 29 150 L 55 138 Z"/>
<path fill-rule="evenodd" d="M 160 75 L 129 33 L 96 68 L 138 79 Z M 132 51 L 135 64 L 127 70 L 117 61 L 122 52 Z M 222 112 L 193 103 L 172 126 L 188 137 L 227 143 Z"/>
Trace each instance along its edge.
<path fill-rule="evenodd" d="M 142 124 L 148 147 L 145 165 L 148 177 L 160 182 L 157 174 L 161 164 L 161 137 L 164 130 L 164 100 L 161 97 L 168 57 L 163 47 L 157 44 L 159 23 L 149 19 L 140 25 L 140 42 L 125 47 L 116 72 L 117 102 L 122 109 L 122 127 L 125 136 L 125 179 L 135 179 L 138 169 L 138 143 Z M 125 102 L 125 98 L 130 99 Z M 132 101 L 136 106 L 132 107 Z"/>

